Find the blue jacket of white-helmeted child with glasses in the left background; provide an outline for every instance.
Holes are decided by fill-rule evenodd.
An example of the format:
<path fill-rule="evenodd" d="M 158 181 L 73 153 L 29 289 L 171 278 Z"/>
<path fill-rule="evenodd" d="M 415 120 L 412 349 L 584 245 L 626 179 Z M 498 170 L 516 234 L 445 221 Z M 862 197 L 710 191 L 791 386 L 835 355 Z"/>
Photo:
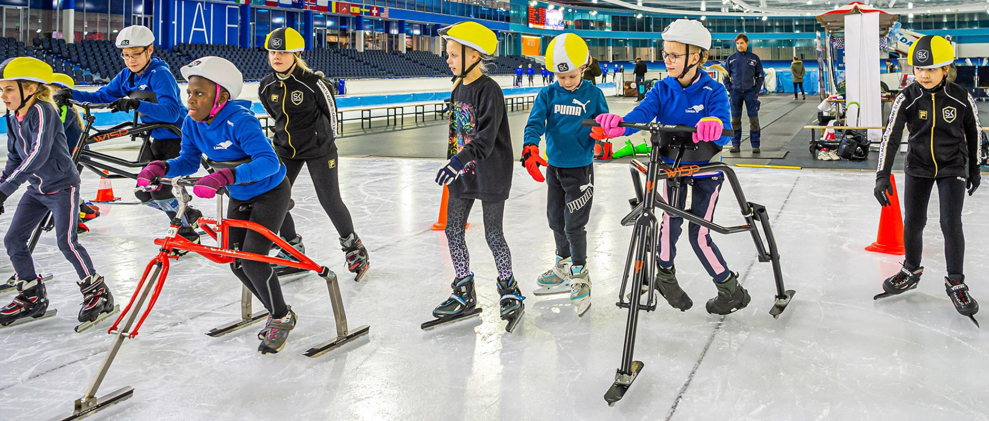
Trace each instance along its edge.
<path fill-rule="evenodd" d="M 134 91 L 150 91 L 157 96 L 157 104 L 141 101 L 137 107 L 137 112 L 143 114 L 140 118 L 141 123 L 171 123 L 182 126 L 182 120 L 189 113 L 189 109 L 182 105 L 179 85 L 175 82 L 175 76 L 169 70 L 168 63 L 158 57 L 151 57 L 151 62 L 139 75 L 125 67 L 109 84 L 96 92 L 73 89 L 72 99 L 90 103 L 111 103 L 127 97 Z M 167 128 L 156 128 L 151 131 L 151 137 L 173 139 L 176 135 Z"/>

